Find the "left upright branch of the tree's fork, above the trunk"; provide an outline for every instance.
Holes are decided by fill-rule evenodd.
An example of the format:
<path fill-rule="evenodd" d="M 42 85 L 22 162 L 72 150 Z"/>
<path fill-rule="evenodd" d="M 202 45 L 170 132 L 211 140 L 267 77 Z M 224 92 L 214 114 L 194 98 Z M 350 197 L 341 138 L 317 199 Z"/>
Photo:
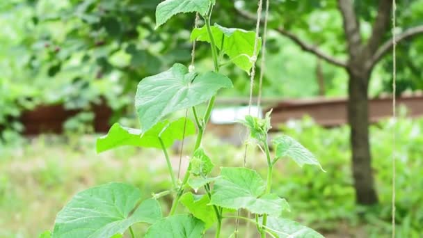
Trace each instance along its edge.
<path fill-rule="evenodd" d="M 338 0 L 338 8 L 342 13 L 346 42 L 348 42 L 349 56 L 356 59 L 361 53 L 362 43 L 360 24 L 353 6 L 353 0 Z"/>

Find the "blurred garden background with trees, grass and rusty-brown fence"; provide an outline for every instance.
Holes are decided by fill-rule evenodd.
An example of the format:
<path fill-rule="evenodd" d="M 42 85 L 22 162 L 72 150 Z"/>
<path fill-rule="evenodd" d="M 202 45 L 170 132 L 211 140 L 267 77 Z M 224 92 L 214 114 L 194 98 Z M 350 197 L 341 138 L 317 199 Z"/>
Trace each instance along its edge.
<path fill-rule="evenodd" d="M 154 30 L 159 2 L 0 1 L 0 237 L 37 237 L 93 185 L 130 182 L 145 198 L 170 187 L 158 150 L 95 154 L 95 138 L 113 122 L 137 126 L 143 77 L 191 62 L 195 15 Z M 253 30 L 256 8 L 217 1 L 212 22 Z M 327 237 L 389 237 L 395 130 L 397 237 L 422 237 L 423 0 L 398 1 L 397 122 L 392 1 L 273 0 L 270 8 L 265 69 L 257 63 L 262 110 L 273 108 L 273 134 L 298 139 L 327 171 L 278 163 L 273 189 L 291 205 L 287 216 Z M 195 67 L 212 68 L 207 44 L 198 44 Z M 222 72 L 234 89 L 219 93 L 217 108 L 237 115 L 248 104 L 249 77 L 232 65 Z M 214 115 L 205 148 L 216 167 L 241 166 L 241 127 Z M 187 138 L 182 168 L 192 148 Z M 264 157 L 249 150 L 248 166 L 265 173 Z M 172 157 L 177 168 L 179 145 Z"/>

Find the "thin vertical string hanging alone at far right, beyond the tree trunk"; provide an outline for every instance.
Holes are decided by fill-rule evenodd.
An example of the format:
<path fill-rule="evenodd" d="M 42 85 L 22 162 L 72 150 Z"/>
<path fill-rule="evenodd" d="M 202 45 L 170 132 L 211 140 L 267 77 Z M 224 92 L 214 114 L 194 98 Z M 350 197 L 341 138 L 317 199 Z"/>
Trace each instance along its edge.
<path fill-rule="evenodd" d="M 396 147 L 397 147 L 397 35 L 395 33 L 397 24 L 397 2 L 392 0 L 392 238 L 395 237 L 395 180 L 397 177 L 396 168 Z"/>

